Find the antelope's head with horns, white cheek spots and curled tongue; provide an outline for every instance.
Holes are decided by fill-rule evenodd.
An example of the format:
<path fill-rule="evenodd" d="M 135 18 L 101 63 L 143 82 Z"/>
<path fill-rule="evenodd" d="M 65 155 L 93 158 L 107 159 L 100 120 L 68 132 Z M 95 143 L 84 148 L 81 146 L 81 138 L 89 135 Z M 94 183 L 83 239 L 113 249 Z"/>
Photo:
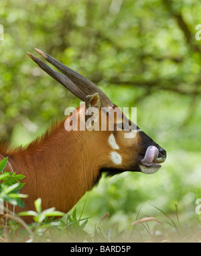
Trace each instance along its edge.
<path fill-rule="evenodd" d="M 98 165 L 94 183 L 103 173 L 106 173 L 107 176 L 125 171 L 153 174 L 161 168 L 161 163 L 166 158 L 165 149 L 125 117 L 121 109 L 113 104 L 98 86 L 42 50 L 35 50 L 62 73 L 50 68 L 42 60 L 27 52 L 32 60 L 76 97 L 84 101 L 83 105 L 76 109 L 75 117 L 79 116 L 78 127 L 80 124 L 84 124 L 85 128 L 87 126 L 87 130 L 82 133 L 82 139 L 87 137 L 88 151 L 91 151 L 92 154 L 96 153 L 96 156 L 102 155 L 94 159 Z M 88 111 L 90 108 L 95 108 L 97 111 Z M 72 116 L 73 113 L 70 117 Z M 91 117 L 92 122 L 89 122 Z M 70 121 L 67 118 L 66 126 L 69 124 Z M 105 128 L 103 129 L 103 127 Z M 68 131 L 68 129 L 66 130 Z M 74 133 L 76 132 L 80 132 L 80 128 L 78 131 L 74 131 Z"/>

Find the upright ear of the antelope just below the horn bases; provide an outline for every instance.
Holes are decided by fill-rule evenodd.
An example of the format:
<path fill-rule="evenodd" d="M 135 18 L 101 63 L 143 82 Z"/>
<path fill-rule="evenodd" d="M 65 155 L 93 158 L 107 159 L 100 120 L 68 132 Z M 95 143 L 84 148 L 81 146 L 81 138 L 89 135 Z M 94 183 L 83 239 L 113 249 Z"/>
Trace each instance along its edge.
<path fill-rule="evenodd" d="M 101 100 L 98 92 L 86 96 L 86 127 L 89 131 L 99 129 L 99 111 L 101 108 Z M 93 113 L 93 114 L 92 114 Z"/>

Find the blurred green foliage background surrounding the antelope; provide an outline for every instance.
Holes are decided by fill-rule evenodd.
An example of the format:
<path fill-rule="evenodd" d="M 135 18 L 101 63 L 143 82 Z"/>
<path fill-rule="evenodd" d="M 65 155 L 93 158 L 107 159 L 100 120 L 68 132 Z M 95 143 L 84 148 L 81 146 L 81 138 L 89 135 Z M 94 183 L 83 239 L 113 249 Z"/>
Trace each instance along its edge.
<path fill-rule="evenodd" d="M 137 125 L 167 151 L 153 176 L 127 173 L 101 180 L 87 194 L 86 218 L 71 227 L 80 230 L 87 216 L 100 219 L 110 212 L 111 237 L 113 227 L 130 227 L 139 208 L 141 216 L 162 218 L 165 212 L 173 219 L 178 195 L 180 224 L 192 222 L 195 200 L 201 198 L 201 41 L 195 38 L 200 11 L 196 0 L 1 0 L 0 134 L 11 145 L 28 143 L 54 119 L 63 119 L 66 107 L 79 105 L 25 54 L 36 47 L 88 77 L 119 107 L 137 107 Z M 0 162 L 5 182 L 0 197 L 19 204 L 20 198 L 10 195 L 21 179 L 2 172 L 5 162 Z M 84 201 L 76 205 L 78 216 Z M 65 216 L 65 225 L 67 219 L 74 223 L 71 212 Z M 84 231 L 94 234 L 90 220 Z M 70 229 L 73 239 L 76 231 Z"/>

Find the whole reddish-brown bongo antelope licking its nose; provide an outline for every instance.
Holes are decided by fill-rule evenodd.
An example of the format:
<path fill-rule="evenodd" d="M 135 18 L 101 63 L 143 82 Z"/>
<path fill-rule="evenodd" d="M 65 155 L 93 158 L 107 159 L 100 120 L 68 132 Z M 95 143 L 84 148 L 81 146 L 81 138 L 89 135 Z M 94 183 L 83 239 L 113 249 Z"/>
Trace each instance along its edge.
<path fill-rule="evenodd" d="M 86 191 L 98 184 L 103 174 L 113 176 L 127 171 L 152 174 L 159 170 L 166 158 L 162 147 L 139 127 L 128 131 L 127 127 L 134 124 L 94 83 L 42 50 L 35 50 L 62 73 L 27 52 L 29 57 L 84 103 L 76 109 L 77 131 L 66 129 L 72 111 L 26 147 L 8 149 L 7 145 L 1 145 L 0 159 L 9 157 L 6 171 L 10 172 L 11 166 L 17 174 L 25 175 L 25 186 L 21 189 L 21 193 L 29 195 L 23 199 L 25 210 L 34 209 L 34 200 L 42 198 L 43 209 L 54 206 L 68 212 Z M 94 115 L 86 111 L 91 107 L 98 110 Z M 114 109 L 117 112 L 111 121 Z M 88 129 L 80 129 L 86 127 L 90 117 L 93 121 L 88 123 Z M 98 131 L 92 129 L 97 124 Z M 135 136 L 125 136 L 130 133 Z"/>

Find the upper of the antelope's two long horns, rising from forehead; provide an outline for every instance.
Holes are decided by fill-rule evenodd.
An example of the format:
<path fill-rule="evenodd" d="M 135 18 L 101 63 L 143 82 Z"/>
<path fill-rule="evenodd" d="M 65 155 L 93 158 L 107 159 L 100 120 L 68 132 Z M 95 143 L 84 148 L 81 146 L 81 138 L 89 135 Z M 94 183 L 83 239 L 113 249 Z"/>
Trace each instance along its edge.
<path fill-rule="evenodd" d="M 113 107 L 113 103 L 107 97 L 107 95 L 96 86 L 93 82 L 82 76 L 81 74 L 78 74 L 74 70 L 68 68 L 58 60 L 55 60 L 50 55 L 46 54 L 42 50 L 39 50 L 37 48 L 34 48 L 38 54 L 40 54 L 43 58 L 45 58 L 50 64 L 58 68 L 66 77 L 70 78 L 70 80 L 78 87 L 82 92 L 84 92 L 85 95 L 92 95 L 96 92 L 100 95 L 101 99 L 101 106 L 102 107 Z M 43 63 L 43 62 L 42 62 Z M 48 73 L 49 74 L 49 73 Z M 50 74 L 51 76 L 51 74 Z M 78 97 L 78 96 L 77 96 Z M 84 99 L 85 101 L 85 99 Z"/>

